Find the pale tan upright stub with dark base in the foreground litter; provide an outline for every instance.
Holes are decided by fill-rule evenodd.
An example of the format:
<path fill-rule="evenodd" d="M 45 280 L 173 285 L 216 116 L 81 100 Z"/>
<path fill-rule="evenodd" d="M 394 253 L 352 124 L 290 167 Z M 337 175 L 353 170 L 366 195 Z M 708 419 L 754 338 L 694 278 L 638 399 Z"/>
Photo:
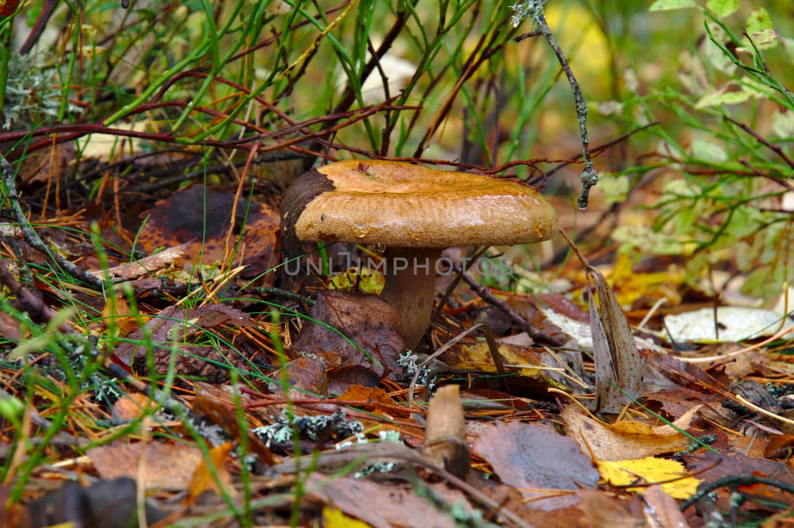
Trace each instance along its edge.
<path fill-rule="evenodd" d="M 437 468 L 466 479 L 472 453 L 466 440 L 466 423 L 457 385 L 445 385 L 430 398 L 422 456 Z"/>

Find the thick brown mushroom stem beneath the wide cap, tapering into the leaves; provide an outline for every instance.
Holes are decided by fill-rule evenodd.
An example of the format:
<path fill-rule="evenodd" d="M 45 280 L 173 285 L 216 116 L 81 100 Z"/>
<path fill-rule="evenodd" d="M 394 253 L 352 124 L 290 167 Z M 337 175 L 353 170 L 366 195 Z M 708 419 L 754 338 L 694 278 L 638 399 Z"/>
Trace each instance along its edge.
<path fill-rule="evenodd" d="M 440 247 L 387 247 L 384 253 L 386 284 L 380 297 L 397 312 L 397 331 L 409 349 L 418 345 L 430 323 L 441 251 Z"/>

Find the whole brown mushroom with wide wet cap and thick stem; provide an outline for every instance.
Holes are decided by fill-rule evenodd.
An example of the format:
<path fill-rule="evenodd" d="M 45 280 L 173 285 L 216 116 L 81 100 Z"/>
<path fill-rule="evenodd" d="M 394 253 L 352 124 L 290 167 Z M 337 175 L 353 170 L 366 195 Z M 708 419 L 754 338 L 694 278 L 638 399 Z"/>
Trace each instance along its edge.
<path fill-rule="evenodd" d="M 303 174 L 284 193 L 281 219 L 290 256 L 301 254 L 300 241 L 383 244 L 380 295 L 411 349 L 430 323 L 441 251 L 541 242 L 559 228 L 549 202 L 520 182 L 375 160 Z"/>

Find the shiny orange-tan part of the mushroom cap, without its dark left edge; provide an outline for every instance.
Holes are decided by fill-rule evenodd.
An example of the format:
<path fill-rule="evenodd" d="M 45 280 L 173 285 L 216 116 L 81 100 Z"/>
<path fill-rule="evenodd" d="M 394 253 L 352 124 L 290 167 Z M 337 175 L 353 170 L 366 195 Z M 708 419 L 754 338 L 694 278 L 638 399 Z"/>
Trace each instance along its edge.
<path fill-rule="evenodd" d="M 295 235 L 301 240 L 512 246 L 551 239 L 559 229 L 557 213 L 536 189 L 507 179 L 377 160 L 317 170 L 333 189 L 326 187 L 300 213 Z"/>

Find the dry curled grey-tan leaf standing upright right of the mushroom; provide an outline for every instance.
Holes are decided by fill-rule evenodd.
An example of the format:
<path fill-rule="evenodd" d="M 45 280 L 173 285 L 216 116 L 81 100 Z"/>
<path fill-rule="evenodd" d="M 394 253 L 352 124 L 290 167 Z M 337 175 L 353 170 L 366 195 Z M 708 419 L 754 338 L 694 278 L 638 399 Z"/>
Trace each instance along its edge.
<path fill-rule="evenodd" d="M 626 316 L 623 315 L 607 279 L 592 266 L 587 266 L 587 270 L 593 355 L 595 357 L 596 410 L 619 412 L 623 404 L 626 404 L 630 398 L 637 399 L 640 396 L 642 358 L 640 358 L 637 343 L 634 342 L 634 335 L 631 334 Z M 589 281 L 591 275 L 595 282 L 595 289 L 598 291 L 600 308 L 595 317 L 593 316 L 594 303 Z M 605 376 L 607 378 L 604 378 Z M 626 396 L 616 391 L 609 381 L 626 392 Z"/>

